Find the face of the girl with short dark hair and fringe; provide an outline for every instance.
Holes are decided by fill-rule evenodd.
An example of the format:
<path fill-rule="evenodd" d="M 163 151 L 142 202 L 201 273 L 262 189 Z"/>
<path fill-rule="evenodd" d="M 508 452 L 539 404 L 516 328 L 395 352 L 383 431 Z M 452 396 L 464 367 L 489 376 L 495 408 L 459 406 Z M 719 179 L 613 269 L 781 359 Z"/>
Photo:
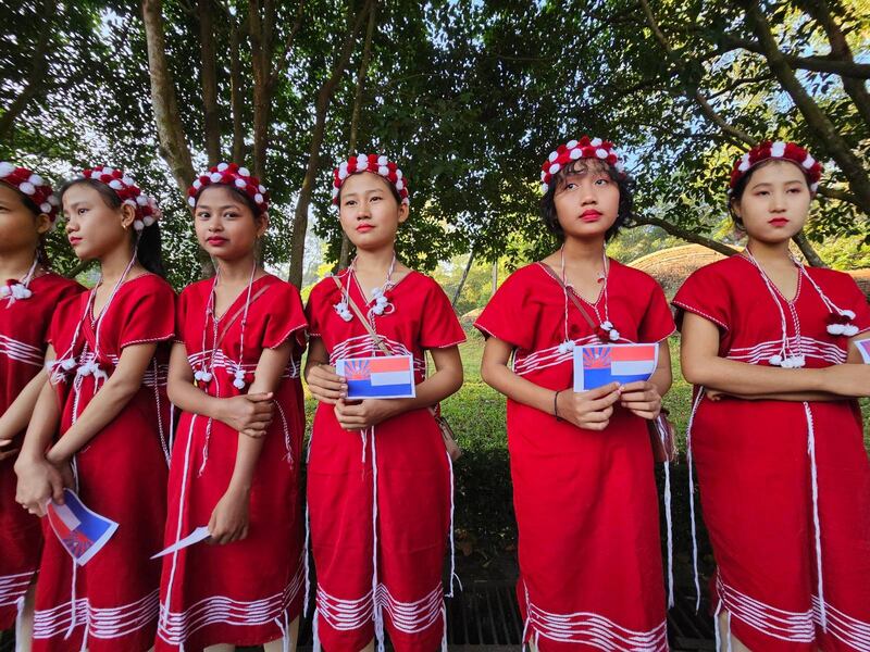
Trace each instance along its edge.
<path fill-rule="evenodd" d="M 552 196 L 566 237 L 604 236 L 619 216 L 619 186 L 598 163 L 579 163 L 559 179 Z"/>

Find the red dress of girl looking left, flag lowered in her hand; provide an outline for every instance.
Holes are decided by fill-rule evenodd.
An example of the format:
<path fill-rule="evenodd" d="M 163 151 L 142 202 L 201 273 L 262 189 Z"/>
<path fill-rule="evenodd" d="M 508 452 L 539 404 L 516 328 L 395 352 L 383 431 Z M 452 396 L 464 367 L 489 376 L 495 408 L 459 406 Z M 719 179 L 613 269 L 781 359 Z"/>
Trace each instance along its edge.
<path fill-rule="evenodd" d="M 61 437 L 111 376 L 125 347 L 166 342 L 174 331 L 175 296 L 159 276 L 121 284 L 100 315 L 92 313 L 92 296 L 66 299 L 51 322 Z M 149 557 L 161 549 L 166 509 L 167 352 L 158 348 L 139 390 L 74 457 L 78 496 L 120 524 L 115 534 L 87 565 L 77 566 L 42 521 L 34 650 L 135 652 L 153 643 L 160 563 Z"/>

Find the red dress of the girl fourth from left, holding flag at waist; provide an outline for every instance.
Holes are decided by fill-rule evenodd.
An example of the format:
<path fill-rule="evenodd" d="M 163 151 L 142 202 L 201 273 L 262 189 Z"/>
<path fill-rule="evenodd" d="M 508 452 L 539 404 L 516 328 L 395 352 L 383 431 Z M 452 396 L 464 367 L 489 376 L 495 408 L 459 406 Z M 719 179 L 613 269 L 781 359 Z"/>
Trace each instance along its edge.
<path fill-rule="evenodd" d="M 426 349 L 465 340 L 444 290 L 424 274 L 410 272 L 387 287 L 380 315 L 351 271 L 337 278 L 353 303 L 372 315 L 386 347 L 413 356 L 418 384 L 425 378 Z M 314 286 L 308 303 L 311 336 L 323 340 L 331 364 L 383 355 L 356 316 L 338 314 L 343 297 L 332 277 Z M 399 652 L 432 652 L 442 643 L 451 475 L 440 430 L 427 409 L 348 432 L 333 405 L 318 406 L 308 505 L 318 577 L 314 625 L 327 651 L 361 650 L 373 635 L 383 643 L 384 625 Z"/>

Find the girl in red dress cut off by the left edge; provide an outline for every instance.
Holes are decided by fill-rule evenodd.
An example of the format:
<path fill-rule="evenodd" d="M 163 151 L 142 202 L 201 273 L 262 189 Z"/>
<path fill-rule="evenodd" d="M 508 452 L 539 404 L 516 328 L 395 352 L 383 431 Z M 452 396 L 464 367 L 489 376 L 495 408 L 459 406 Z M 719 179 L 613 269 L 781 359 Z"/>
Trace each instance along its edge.
<path fill-rule="evenodd" d="M 0 163 L 0 630 L 18 619 L 29 650 L 33 580 L 39 566 L 39 518 L 15 503 L 13 465 L 46 383 L 46 335 L 54 306 L 80 291 L 48 268 L 42 237 L 58 216 L 51 186 L 27 170 Z"/>

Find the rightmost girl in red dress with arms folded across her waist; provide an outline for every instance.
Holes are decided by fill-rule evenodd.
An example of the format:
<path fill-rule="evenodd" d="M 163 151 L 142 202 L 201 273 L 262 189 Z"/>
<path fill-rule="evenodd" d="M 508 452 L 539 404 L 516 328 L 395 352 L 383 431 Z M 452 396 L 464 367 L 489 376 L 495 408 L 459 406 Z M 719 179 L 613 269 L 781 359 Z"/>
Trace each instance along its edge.
<path fill-rule="evenodd" d="M 788 250 L 820 176 L 791 142 L 744 154 L 730 208 L 746 249 L 674 298 L 717 632 L 733 650 L 870 650 L 870 464 L 853 399 L 870 396 L 870 365 L 844 364 L 861 361 L 850 342 L 870 308 L 848 275 Z"/>

